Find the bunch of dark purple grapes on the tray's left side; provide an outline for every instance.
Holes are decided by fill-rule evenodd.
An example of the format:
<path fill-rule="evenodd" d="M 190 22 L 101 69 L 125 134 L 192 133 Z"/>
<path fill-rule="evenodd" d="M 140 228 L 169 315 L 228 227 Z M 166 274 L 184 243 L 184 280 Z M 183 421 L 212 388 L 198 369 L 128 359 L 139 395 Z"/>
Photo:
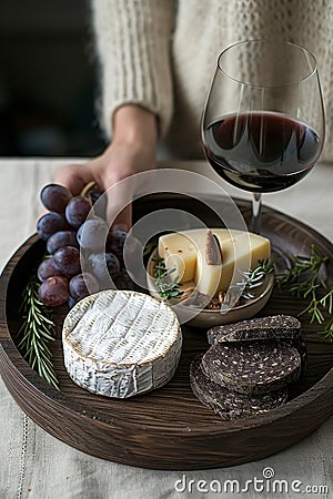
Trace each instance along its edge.
<path fill-rule="evenodd" d="M 57 307 L 68 303 L 71 307 L 109 287 L 110 277 L 117 288 L 133 288 L 123 266 L 127 233 L 109 232 L 99 212 L 93 211 L 91 216 L 98 193 L 73 196 L 62 185 L 49 184 L 40 197 L 49 210 L 37 225 L 48 252 L 38 267 L 39 298 L 44 305 Z"/>

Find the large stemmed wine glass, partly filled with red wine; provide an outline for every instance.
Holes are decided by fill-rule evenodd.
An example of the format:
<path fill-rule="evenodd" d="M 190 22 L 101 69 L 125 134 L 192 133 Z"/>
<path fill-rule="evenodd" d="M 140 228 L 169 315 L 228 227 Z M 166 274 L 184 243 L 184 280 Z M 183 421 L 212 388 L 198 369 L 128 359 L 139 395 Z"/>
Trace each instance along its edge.
<path fill-rule="evenodd" d="M 276 40 L 225 49 L 201 120 L 205 155 L 232 185 L 253 193 L 251 231 L 261 232 L 261 194 L 290 187 L 317 162 L 324 110 L 316 60 Z"/>

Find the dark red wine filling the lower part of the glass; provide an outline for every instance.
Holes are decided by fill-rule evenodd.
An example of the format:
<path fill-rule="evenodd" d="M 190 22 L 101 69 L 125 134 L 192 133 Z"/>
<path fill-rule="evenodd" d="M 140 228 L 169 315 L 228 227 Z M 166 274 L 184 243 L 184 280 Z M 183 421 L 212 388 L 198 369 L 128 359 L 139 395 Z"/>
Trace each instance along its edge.
<path fill-rule="evenodd" d="M 209 124 L 203 145 L 222 179 L 252 192 L 290 187 L 310 172 L 322 149 L 314 130 L 269 112 L 234 114 Z"/>

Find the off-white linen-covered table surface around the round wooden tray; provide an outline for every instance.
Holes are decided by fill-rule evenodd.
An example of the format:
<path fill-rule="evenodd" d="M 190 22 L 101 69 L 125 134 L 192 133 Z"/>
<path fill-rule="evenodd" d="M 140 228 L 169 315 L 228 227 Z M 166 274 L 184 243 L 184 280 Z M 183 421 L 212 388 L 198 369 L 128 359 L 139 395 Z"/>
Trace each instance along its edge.
<path fill-rule="evenodd" d="M 41 210 L 40 189 L 52 180 L 58 167 L 69 162 L 73 160 L 0 161 L 0 269 L 17 247 L 36 232 Z M 163 163 L 161 166 L 208 174 L 222 185 L 203 162 Z M 297 185 L 266 194 L 264 203 L 333 241 L 332 185 L 333 165 L 319 164 Z M 223 187 L 231 195 L 246 197 L 236 189 L 225 184 Z M 300 444 L 266 459 L 232 468 L 186 472 L 133 468 L 93 458 L 67 446 L 21 411 L 1 379 L 0 422 L 0 499 L 213 498 L 219 497 L 219 487 L 223 498 L 238 497 L 236 487 L 246 498 L 290 499 L 300 497 L 300 491 L 306 497 L 333 497 L 333 418 Z M 269 479 L 270 473 L 274 473 L 274 478 Z M 226 480 L 234 480 L 234 489 Z M 279 488 L 276 492 L 269 491 L 274 480 L 275 485 L 280 480 L 282 492 L 278 492 Z M 329 491 L 321 489 L 322 486 Z"/>

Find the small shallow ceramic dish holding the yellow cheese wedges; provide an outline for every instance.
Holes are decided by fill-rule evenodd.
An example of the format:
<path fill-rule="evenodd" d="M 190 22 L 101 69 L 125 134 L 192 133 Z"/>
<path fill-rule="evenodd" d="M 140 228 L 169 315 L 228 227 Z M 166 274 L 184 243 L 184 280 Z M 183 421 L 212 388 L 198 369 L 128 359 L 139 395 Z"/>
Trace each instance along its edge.
<path fill-rule="evenodd" d="M 147 284 L 149 293 L 155 298 L 162 299 L 154 284 L 153 269 L 154 256 L 157 249 L 150 255 L 147 265 Z M 174 309 L 179 316 L 180 322 L 186 323 L 190 326 L 209 328 L 220 326 L 223 324 L 235 323 L 238 320 L 245 320 L 256 315 L 268 303 L 274 286 L 274 274 L 266 274 L 262 285 L 251 289 L 254 298 L 242 299 L 240 305 L 231 307 L 228 312 L 198 309 L 192 305 L 184 305 L 178 299 L 170 299 L 168 304 Z"/>

